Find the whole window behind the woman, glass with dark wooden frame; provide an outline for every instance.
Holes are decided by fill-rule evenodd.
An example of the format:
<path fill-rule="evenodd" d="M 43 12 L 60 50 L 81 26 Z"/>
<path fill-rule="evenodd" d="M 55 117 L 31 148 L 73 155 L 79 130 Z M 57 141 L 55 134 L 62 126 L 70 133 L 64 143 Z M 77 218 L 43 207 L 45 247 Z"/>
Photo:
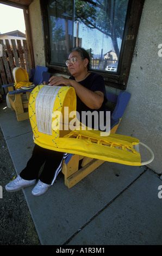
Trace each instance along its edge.
<path fill-rule="evenodd" d="M 65 61 L 71 48 L 80 46 L 90 54 L 92 71 L 101 72 L 107 84 L 125 89 L 131 52 L 129 46 L 126 53 L 127 40 L 135 44 L 134 34 L 128 36 L 130 15 L 134 15 L 136 29 L 144 4 L 141 2 L 144 1 L 41 1 L 47 66 L 66 73 Z"/>

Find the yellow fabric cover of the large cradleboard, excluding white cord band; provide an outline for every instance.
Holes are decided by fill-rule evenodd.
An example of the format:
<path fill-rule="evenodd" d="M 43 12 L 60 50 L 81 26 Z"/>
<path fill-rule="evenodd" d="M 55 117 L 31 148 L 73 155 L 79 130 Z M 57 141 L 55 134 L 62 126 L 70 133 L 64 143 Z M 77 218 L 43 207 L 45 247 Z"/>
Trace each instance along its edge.
<path fill-rule="evenodd" d="M 81 130 L 80 126 L 77 126 L 73 131 L 70 129 L 59 130 L 61 120 L 59 116 L 56 117 L 56 111 L 59 110 L 63 113 L 66 106 L 69 107 L 69 112 L 76 111 L 76 93 L 72 87 L 61 87 L 55 98 L 52 113 L 52 124 L 55 124 L 55 127 L 51 127 L 52 135 L 40 132 L 35 115 L 35 101 L 42 87 L 37 86 L 30 94 L 29 100 L 29 117 L 36 144 L 42 148 L 93 157 L 104 161 L 131 166 L 141 165 L 140 153 L 133 148 L 134 145 L 139 144 L 139 139 L 113 133 L 110 133 L 109 136 L 101 136 L 100 131 L 93 129 Z"/>

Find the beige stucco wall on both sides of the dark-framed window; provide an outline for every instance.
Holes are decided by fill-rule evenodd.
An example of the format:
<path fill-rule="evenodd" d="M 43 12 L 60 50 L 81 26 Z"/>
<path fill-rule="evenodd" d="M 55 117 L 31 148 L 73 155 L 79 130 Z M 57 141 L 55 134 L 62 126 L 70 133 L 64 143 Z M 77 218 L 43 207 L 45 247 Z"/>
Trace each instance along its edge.
<path fill-rule="evenodd" d="M 148 167 L 162 173 L 162 109 L 161 109 L 161 61 L 158 45 L 161 42 L 160 0 L 146 0 L 141 17 L 138 39 L 130 69 L 127 91 L 131 99 L 123 115 L 117 133 L 139 138 L 150 147 L 155 158 Z M 30 17 L 36 65 L 45 65 L 43 35 L 39 0 L 30 4 Z M 109 92 L 119 94 L 118 89 L 107 87 Z M 141 150 L 142 160 L 149 155 Z"/>

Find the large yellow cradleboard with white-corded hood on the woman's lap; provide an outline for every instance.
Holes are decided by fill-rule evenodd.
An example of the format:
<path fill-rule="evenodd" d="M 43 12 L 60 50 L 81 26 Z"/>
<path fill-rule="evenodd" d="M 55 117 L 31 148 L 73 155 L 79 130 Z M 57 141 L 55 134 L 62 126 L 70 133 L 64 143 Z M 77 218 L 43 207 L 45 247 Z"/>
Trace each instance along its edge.
<path fill-rule="evenodd" d="M 79 122 L 76 129 L 71 130 L 70 123 L 74 120 L 71 113 L 76 114 L 76 93 L 72 87 L 35 87 L 29 100 L 34 142 L 42 148 L 130 166 L 141 166 L 153 160 L 151 149 L 139 139 L 114 133 L 101 136 L 100 131 L 83 130 Z M 139 144 L 151 153 L 149 161 L 141 163 Z"/>

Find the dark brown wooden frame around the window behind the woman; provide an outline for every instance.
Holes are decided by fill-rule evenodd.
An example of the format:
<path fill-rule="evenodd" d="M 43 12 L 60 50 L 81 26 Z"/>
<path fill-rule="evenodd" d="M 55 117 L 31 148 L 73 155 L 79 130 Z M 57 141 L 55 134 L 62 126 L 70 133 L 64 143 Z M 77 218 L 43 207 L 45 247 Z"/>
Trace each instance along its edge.
<path fill-rule="evenodd" d="M 66 66 L 49 64 L 50 50 L 48 48 L 49 31 L 46 3 L 46 1 L 40 0 L 46 66 L 51 73 L 58 73 L 70 76 Z M 122 56 L 120 56 L 119 59 L 119 65 L 121 65 L 120 74 L 113 74 L 112 72 L 104 70 L 91 70 L 92 72 L 101 74 L 104 77 L 105 86 L 126 90 L 144 3 L 145 0 L 130 0 L 128 3 L 128 8 L 130 9 L 130 11 L 128 11 L 126 18 L 126 34 L 124 35 L 125 40 L 124 44 L 122 44 L 121 46 L 122 48 L 120 51 L 122 53 Z"/>

